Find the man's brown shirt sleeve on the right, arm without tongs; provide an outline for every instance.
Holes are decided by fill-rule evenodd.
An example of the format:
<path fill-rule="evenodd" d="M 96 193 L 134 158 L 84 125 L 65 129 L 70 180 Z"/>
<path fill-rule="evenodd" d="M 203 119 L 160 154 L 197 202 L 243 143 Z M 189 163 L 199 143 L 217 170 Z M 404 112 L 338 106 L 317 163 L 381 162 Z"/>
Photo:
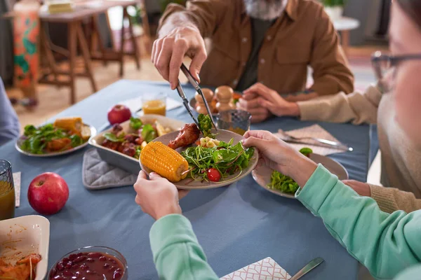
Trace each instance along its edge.
<path fill-rule="evenodd" d="M 314 31 L 312 57 L 314 84 L 310 88 L 319 95 L 354 91 L 354 75 L 349 69 L 338 34 L 323 8 Z"/>

